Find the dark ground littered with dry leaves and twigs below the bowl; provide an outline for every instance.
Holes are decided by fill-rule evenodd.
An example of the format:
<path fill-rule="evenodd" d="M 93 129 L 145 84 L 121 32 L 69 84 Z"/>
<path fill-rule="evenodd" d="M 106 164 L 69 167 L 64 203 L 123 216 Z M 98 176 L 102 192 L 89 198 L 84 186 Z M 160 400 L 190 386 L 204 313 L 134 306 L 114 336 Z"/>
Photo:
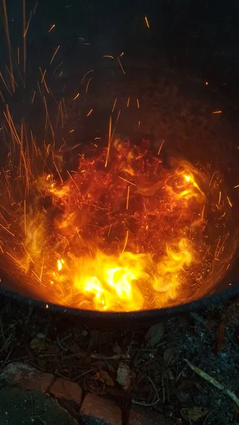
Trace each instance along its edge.
<path fill-rule="evenodd" d="M 238 299 L 135 331 L 95 331 L 77 317 L 62 317 L 7 298 L 1 306 L 1 370 L 13 361 L 26 362 L 77 382 L 84 397 L 93 392 L 114 400 L 126 416 L 130 406 L 140 405 L 160 412 L 172 424 L 190 424 L 197 408 L 196 424 L 239 423 L 232 399 L 184 360 L 237 394 Z M 10 391 L 9 398 L 9 390 L 1 390 L 1 414 L 6 410 L 4 397 L 13 404 L 19 397 L 17 391 Z M 34 416 L 31 404 L 27 409 Z M 40 409 L 35 407 L 35 416 Z"/>

